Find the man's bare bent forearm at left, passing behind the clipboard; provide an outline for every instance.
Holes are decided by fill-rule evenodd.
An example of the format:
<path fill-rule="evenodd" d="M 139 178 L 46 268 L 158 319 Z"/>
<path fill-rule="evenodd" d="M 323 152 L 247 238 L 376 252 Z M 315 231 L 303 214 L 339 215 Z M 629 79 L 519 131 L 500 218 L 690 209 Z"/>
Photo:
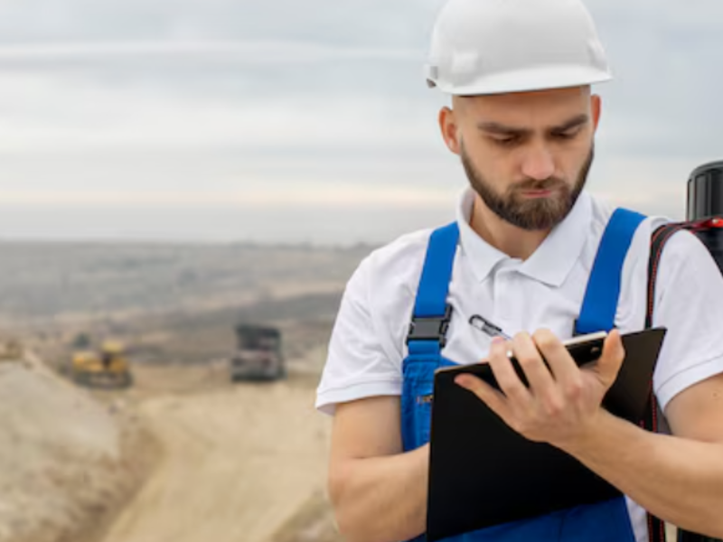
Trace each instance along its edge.
<path fill-rule="evenodd" d="M 350 542 L 395 542 L 422 534 L 427 521 L 429 447 L 349 460 L 335 469 L 330 493 Z"/>

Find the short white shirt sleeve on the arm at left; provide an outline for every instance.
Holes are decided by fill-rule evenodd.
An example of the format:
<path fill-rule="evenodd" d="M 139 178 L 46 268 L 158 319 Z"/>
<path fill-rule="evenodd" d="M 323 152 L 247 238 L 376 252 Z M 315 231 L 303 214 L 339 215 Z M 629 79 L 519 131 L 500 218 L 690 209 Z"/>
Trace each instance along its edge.
<path fill-rule="evenodd" d="M 368 258 L 344 290 L 316 394 L 316 408 L 324 414 L 333 415 L 339 403 L 401 394 L 401 362 L 382 348 L 371 306 L 370 267 Z"/>

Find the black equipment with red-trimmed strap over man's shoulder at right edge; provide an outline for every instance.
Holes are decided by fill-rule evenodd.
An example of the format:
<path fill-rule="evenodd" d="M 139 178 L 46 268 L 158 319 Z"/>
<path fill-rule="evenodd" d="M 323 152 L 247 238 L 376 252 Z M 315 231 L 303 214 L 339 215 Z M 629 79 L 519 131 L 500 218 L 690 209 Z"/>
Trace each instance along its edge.
<path fill-rule="evenodd" d="M 718 268 L 723 272 L 723 162 L 701 165 L 690 174 L 686 221 L 665 224 L 653 232 L 648 267 L 648 312 L 646 316 L 646 327 L 648 328 L 653 326 L 655 279 L 662 250 L 668 239 L 682 229 L 686 229 L 700 238 L 700 241 L 709 249 Z M 655 397 L 652 394 L 645 420 L 646 428 L 650 431 L 657 431 L 660 416 Z M 660 519 L 650 517 L 649 529 L 651 530 L 651 542 L 665 541 L 665 525 Z M 679 530 L 678 542 L 721 541 L 717 538 Z"/>

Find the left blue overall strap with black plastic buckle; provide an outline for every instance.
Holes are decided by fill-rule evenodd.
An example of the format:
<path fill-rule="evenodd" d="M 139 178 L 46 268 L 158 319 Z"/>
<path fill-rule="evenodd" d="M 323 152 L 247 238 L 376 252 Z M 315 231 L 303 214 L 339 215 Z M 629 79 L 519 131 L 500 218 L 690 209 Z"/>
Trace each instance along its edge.
<path fill-rule="evenodd" d="M 417 290 L 407 344 L 409 353 L 439 353 L 445 346 L 452 315 L 446 304 L 449 282 L 455 266 L 459 228 L 456 222 L 432 232 Z"/>

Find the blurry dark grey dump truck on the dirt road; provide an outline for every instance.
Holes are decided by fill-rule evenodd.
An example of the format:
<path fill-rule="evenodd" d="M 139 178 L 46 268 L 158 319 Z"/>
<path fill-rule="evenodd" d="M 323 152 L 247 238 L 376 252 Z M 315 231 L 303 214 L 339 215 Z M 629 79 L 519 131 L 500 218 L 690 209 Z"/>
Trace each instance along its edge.
<path fill-rule="evenodd" d="M 241 324 L 236 327 L 237 350 L 230 359 L 232 380 L 286 378 L 281 332 L 274 327 Z"/>

